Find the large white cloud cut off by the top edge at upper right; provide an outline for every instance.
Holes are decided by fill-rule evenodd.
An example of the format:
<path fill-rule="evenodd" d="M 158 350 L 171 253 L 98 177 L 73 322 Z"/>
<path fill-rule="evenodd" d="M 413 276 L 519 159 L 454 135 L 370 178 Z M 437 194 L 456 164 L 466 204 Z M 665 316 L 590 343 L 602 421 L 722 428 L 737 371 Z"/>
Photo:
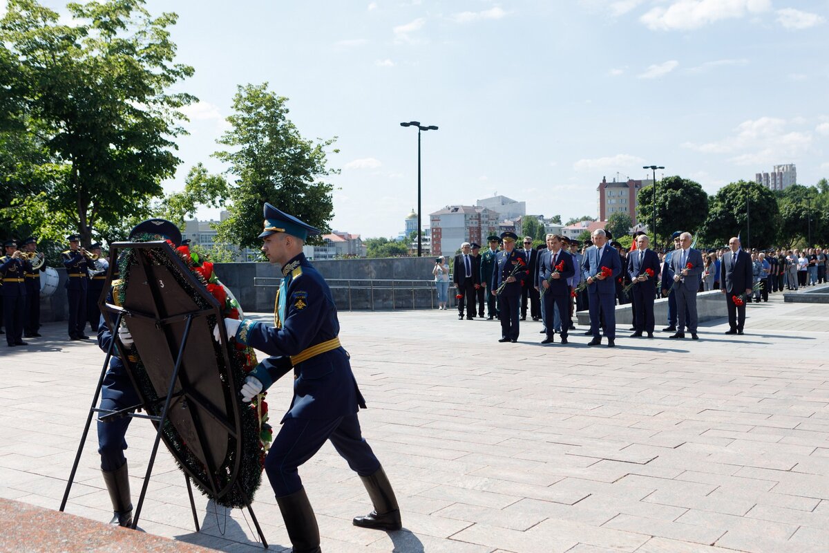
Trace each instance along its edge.
<path fill-rule="evenodd" d="M 771 0 L 676 0 L 668 7 L 653 7 L 639 20 L 652 31 L 688 30 L 768 12 L 771 7 Z"/>

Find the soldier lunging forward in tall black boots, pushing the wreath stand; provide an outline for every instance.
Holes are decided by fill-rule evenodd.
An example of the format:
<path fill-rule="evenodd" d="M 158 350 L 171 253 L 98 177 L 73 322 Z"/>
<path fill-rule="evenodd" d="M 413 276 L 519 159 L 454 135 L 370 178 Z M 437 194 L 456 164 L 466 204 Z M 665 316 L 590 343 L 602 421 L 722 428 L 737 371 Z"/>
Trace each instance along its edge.
<path fill-rule="evenodd" d="M 360 476 L 374 505 L 374 511 L 356 517 L 354 525 L 399 530 L 395 492 L 361 435 L 357 411 L 366 403 L 337 337 L 340 323 L 331 289 L 303 255 L 306 238 L 319 230 L 269 203 L 264 204 L 264 219 L 262 251 L 271 263 L 279 264 L 284 277 L 274 325 L 225 318 L 225 329 L 237 342 L 272 356 L 245 379 L 243 400 L 250 401 L 293 368 L 293 400 L 264 462 L 293 551 L 320 551 L 317 519 L 298 467 L 327 439 Z M 214 335 L 218 339 L 218 327 Z"/>

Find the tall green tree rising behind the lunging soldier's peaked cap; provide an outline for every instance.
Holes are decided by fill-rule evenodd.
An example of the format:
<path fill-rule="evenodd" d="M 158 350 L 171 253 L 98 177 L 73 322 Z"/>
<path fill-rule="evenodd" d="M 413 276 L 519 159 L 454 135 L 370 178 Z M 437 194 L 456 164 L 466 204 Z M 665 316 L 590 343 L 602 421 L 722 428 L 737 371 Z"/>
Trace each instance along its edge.
<path fill-rule="evenodd" d="M 321 180 L 339 171 L 327 167 L 326 148 L 336 138 L 313 143 L 288 119 L 288 99 L 268 84 L 239 86 L 233 97 L 232 129 L 218 140 L 230 151 L 214 155 L 230 167 L 230 218 L 216 227 L 218 239 L 241 246 L 259 245 L 262 205 L 298 217 L 323 233 L 334 215 L 332 185 Z M 338 150 L 333 150 L 337 153 Z"/>

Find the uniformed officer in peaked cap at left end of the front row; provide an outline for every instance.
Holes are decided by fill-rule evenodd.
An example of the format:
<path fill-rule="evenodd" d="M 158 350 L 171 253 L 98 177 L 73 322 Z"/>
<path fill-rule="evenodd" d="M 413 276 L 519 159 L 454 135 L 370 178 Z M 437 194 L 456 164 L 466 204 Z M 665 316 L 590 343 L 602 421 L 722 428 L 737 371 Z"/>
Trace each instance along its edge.
<path fill-rule="evenodd" d="M 495 256 L 495 269 L 492 271 L 492 291 L 497 293 L 501 317 L 501 339 L 498 342 L 517 342 L 521 289 L 524 282 L 530 279 L 530 268 L 526 264 L 525 256 L 516 251 L 516 233 L 504 232 L 501 240 L 504 249 Z M 513 270 L 516 271 L 515 274 Z M 504 287 L 498 293 L 501 284 L 504 284 Z"/>

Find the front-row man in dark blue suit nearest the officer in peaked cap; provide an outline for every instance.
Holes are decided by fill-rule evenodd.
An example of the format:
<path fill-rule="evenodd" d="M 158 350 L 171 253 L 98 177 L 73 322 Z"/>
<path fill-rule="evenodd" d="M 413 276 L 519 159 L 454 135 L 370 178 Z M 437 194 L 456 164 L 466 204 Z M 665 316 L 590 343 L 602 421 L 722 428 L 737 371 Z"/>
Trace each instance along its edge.
<path fill-rule="evenodd" d="M 575 274 L 573 258 L 561 249 L 560 235 L 547 235 L 547 249 L 538 259 L 538 282 L 541 289 L 541 309 L 547 322 L 547 337 L 542 344 L 554 342 L 555 308 L 559 310 L 561 343 L 567 343 L 570 330 L 570 285 L 568 279 Z"/>

